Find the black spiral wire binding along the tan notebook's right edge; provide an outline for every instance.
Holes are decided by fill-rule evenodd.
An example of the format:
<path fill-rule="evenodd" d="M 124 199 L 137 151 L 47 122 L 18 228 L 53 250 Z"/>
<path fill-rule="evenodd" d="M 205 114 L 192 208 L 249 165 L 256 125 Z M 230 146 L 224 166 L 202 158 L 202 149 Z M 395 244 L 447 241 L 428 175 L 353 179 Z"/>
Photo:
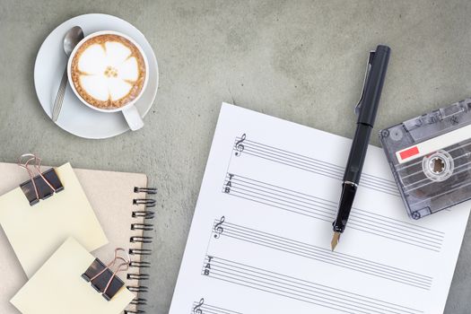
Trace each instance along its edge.
<path fill-rule="evenodd" d="M 155 195 L 157 194 L 156 188 L 134 188 L 134 193 L 146 193 L 147 195 Z M 148 211 L 148 208 L 154 207 L 156 204 L 153 198 L 135 198 L 133 199 L 133 205 L 144 205 L 145 210 L 137 210 L 132 212 L 133 218 L 143 218 L 144 222 L 136 222 L 131 223 L 131 230 L 142 230 L 142 231 L 153 231 L 153 223 L 146 222 L 147 220 L 153 219 L 155 213 L 153 211 Z M 149 236 L 133 236 L 129 238 L 130 243 L 152 243 L 153 237 Z M 149 256 L 152 254 L 152 249 L 129 249 L 128 251 L 130 256 Z M 132 260 L 129 263 L 130 268 L 149 268 L 151 267 L 151 263 L 144 262 L 144 261 L 136 261 Z M 126 288 L 130 292 L 148 292 L 149 288 L 141 285 L 140 281 L 148 280 L 150 275 L 148 274 L 127 274 L 128 280 L 136 280 L 139 282 L 138 285 L 128 285 Z M 139 295 L 131 302 L 131 304 L 135 305 L 136 307 L 140 307 L 147 304 L 147 300 L 141 298 Z M 136 308 L 137 309 L 137 308 Z M 124 314 L 141 314 L 145 313 L 145 310 L 125 310 Z"/>

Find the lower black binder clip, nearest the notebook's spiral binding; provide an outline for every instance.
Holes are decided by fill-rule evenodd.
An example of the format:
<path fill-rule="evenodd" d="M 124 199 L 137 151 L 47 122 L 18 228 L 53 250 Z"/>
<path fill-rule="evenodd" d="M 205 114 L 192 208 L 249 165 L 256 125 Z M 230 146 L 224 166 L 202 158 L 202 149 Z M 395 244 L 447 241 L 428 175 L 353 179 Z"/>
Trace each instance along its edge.
<path fill-rule="evenodd" d="M 118 257 L 119 251 L 126 253 L 125 249 L 115 249 L 115 257 L 107 266 L 105 266 L 99 258 L 95 258 L 92 265 L 88 267 L 82 275 L 82 278 L 85 279 L 87 283 L 92 283 L 93 289 L 100 292 L 107 301 L 111 300 L 119 289 L 124 286 L 125 283 L 119 279 L 117 274 L 129 269 L 129 263 L 131 262 L 131 258 L 127 254 L 127 259 Z M 119 264 L 116 270 L 112 272 L 110 267 L 114 266 L 118 260 L 123 261 L 123 263 Z"/>

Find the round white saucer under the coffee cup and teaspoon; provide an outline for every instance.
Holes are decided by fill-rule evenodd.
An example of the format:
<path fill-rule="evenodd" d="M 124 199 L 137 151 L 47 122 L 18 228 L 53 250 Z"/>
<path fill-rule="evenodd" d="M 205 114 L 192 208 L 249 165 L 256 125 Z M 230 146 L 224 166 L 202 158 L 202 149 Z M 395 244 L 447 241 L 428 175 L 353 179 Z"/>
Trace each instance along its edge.
<path fill-rule="evenodd" d="M 149 60 L 149 83 L 141 99 L 135 103 L 135 107 L 144 118 L 153 105 L 159 86 L 159 67 L 153 54 L 153 48 L 143 33 L 133 25 L 107 14 L 84 14 L 65 21 L 49 34 L 39 48 L 34 65 L 34 85 L 39 102 L 48 117 L 52 116 L 52 106 L 67 64 L 67 57 L 63 49 L 64 36 L 69 29 L 76 25 L 82 27 L 85 36 L 95 31 L 122 32 L 135 39 L 144 49 Z M 121 112 L 103 113 L 88 108 L 75 97 L 69 85 L 65 91 L 57 126 L 73 135 L 85 138 L 108 138 L 129 130 Z"/>

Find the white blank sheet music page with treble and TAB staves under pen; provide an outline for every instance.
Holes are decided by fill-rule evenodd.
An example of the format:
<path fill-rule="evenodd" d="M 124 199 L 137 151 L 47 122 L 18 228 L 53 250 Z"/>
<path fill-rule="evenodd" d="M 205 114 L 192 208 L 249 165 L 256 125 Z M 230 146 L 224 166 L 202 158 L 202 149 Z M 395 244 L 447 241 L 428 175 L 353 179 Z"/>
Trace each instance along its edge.
<path fill-rule="evenodd" d="M 332 252 L 350 145 L 223 104 L 170 314 L 441 313 L 470 203 L 411 220 L 371 146 Z"/>

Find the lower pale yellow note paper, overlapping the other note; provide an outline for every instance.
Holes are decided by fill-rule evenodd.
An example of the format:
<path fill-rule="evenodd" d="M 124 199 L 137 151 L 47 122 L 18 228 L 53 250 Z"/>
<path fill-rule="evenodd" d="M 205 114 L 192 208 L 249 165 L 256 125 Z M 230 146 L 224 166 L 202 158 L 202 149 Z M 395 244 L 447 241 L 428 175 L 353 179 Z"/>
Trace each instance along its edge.
<path fill-rule="evenodd" d="M 65 240 L 11 302 L 23 314 L 120 313 L 135 295 L 123 286 L 106 301 L 82 278 L 94 259 L 74 238 Z"/>

